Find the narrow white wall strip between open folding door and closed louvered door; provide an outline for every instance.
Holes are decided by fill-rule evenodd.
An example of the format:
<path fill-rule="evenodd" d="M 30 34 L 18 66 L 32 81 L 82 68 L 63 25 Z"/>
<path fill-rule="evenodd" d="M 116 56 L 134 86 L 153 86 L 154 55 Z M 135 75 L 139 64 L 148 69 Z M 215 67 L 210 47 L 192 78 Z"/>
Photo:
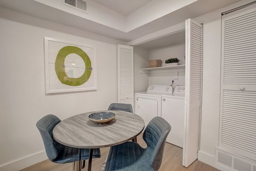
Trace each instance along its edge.
<path fill-rule="evenodd" d="M 201 18 L 204 21 L 204 41 L 201 140 L 198 160 L 214 165 L 219 130 L 221 13 L 212 12 L 207 15 Z"/>

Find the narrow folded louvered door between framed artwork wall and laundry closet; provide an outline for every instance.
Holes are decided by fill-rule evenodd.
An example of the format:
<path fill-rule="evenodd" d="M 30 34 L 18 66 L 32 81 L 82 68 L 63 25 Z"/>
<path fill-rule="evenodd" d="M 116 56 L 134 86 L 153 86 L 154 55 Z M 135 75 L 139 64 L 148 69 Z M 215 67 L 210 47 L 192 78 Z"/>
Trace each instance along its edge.
<path fill-rule="evenodd" d="M 118 45 L 118 102 L 134 108 L 133 47 Z"/>

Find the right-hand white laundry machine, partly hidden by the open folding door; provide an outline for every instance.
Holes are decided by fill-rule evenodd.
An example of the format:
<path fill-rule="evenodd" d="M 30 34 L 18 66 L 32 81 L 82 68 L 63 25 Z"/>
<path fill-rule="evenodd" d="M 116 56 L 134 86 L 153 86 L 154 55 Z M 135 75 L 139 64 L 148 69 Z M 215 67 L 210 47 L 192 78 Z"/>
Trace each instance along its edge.
<path fill-rule="evenodd" d="M 183 148 L 183 129 L 185 116 L 185 86 L 176 86 L 173 94 L 162 95 L 162 115 L 172 126 L 166 142 Z"/>

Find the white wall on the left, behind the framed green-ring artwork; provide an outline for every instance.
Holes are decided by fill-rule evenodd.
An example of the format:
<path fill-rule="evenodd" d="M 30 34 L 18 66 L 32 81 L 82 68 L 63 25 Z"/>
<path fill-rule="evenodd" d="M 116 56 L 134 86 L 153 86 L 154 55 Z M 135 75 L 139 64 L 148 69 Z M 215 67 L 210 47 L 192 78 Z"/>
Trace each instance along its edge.
<path fill-rule="evenodd" d="M 45 36 L 96 47 L 96 91 L 45 93 Z M 41 117 L 52 113 L 63 120 L 106 110 L 117 102 L 119 43 L 124 42 L 0 8 L 1 171 L 19 170 L 46 159 L 35 127 Z"/>

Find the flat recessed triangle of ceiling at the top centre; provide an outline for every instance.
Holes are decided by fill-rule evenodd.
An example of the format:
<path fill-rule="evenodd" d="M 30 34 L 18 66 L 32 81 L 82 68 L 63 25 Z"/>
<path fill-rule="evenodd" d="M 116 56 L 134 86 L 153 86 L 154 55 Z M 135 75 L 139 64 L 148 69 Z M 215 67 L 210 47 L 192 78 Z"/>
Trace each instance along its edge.
<path fill-rule="evenodd" d="M 127 16 L 152 0 L 93 0 L 119 14 Z"/>

